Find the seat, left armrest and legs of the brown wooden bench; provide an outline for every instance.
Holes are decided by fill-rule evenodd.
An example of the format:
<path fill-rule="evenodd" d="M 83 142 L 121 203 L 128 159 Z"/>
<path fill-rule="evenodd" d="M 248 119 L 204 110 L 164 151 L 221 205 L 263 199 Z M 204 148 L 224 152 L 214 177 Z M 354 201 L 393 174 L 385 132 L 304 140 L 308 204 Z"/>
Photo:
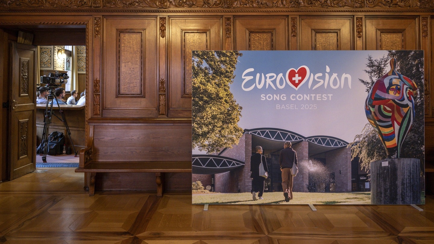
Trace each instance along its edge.
<path fill-rule="evenodd" d="M 157 184 L 157 196 L 162 196 L 164 192 L 164 174 L 168 172 L 190 172 L 191 161 L 124 161 L 124 162 L 94 162 L 92 154 L 94 150 L 93 141 L 94 129 L 89 126 L 88 145 L 79 152 L 79 168 L 76 172 L 85 173 L 85 181 L 88 181 L 89 196 L 95 194 L 96 173 L 112 172 L 151 172 L 155 173 Z M 122 158 L 122 155 L 119 155 Z M 85 182 L 86 184 L 86 182 Z"/>

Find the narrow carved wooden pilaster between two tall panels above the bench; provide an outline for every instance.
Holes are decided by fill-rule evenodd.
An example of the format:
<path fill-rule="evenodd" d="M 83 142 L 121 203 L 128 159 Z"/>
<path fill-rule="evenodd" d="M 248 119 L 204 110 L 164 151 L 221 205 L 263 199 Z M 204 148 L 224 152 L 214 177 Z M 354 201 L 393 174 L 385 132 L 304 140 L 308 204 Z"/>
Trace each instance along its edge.
<path fill-rule="evenodd" d="M 159 16 L 158 116 L 167 117 L 167 19 Z"/>

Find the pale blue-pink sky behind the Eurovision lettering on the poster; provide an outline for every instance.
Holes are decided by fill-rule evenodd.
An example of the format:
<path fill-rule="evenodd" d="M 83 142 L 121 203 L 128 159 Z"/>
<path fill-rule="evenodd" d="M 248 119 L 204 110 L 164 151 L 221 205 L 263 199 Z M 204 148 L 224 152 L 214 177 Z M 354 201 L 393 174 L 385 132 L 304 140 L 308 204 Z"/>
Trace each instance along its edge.
<path fill-rule="evenodd" d="M 340 138 L 346 142 L 352 142 L 354 136 L 362 132 L 368 122 L 365 116 L 364 103 L 366 96 L 365 86 L 358 79 L 368 79 L 363 71 L 368 62 L 368 55 L 374 59 L 387 56 L 387 51 L 240 51 L 243 56 L 238 58 L 235 70 L 235 79 L 230 84 L 230 91 L 233 93 L 236 102 L 243 107 L 238 125 L 243 129 L 260 127 L 272 127 L 286 129 L 303 136 L 327 135 Z M 329 74 L 329 80 L 333 73 L 337 74 L 339 82 L 343 73 L 351 76 L 351 89 L 348 80 L 345 80 L 343 88 L 332 89 L 330 82 L 325 88 L 324 83 L 313 89 L 319 82 L 314 78 L 309 88 L 309 79 L 296 90 L 288 83 L 282 89 L 276 85 L 276 79 L 272 80 L 276 89 L 264 85 L 261 89 L 256 86 L 256 74 L 279 73 L 286 77 L 289 69 L 298 69 L 300 66 L 307 66 L 309 74 L 317 75 L 319 79 L 325 80 L 325 74 Z M 329 72 L 326 68 L 329 67 Z M 242 85 L 243 72 L 253 68 L 254 71 L 247 73 L 253 79 L 245 82 L 244 88 L 252 86 L 252 90 L 246 91 Z M 322 73 L 322 75 L 319 75 Z M 309 76 L 310 77 L 310 76 Z M 261 81 L 262 78 L 260 78 Z M 333 85 L 337 81 L 334 80 Z M 280 82 L 283 85 L 283 82 Z M 269 95 L 270 94 L 270 95 Z M 302 97 L 312 95 L 326 100 L 298 100 Z M 263 95 L 263 96 L 262 96 Z M 279 100 L 261 100 L 266 96 L 279 96 Z M 286 100 L 282 100 L 282 95 Z M 295 100 L 291 100 L 291 95 Z M 331 96 L 330 96 L 331 95 Z M 194 96 L 194 95 L 193 95 Z M 331 97 L 331 98 L 330 98 Z M 288 106 L 292 109 L 279 109 Z M 309 109 L 302 109 L 306 108 Z M 310 109 L 312 108 L 312 109 Z M 316 109 L 314 109 L 316 108 Z M 194 116 L 194 115 L 193 115 Z M 204 152 L 193 152 L 204 153 Z"/>

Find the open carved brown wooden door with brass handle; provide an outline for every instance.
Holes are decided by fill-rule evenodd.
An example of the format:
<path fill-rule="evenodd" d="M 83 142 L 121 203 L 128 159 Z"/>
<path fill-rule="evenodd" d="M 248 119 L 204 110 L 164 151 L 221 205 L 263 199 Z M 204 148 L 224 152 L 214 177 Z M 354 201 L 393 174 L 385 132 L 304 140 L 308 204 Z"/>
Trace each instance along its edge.
<path fill-rule="evenodd" d="M 36 50 L 36 46 L 10 43 L 10 180 L 36 168 Z"/>

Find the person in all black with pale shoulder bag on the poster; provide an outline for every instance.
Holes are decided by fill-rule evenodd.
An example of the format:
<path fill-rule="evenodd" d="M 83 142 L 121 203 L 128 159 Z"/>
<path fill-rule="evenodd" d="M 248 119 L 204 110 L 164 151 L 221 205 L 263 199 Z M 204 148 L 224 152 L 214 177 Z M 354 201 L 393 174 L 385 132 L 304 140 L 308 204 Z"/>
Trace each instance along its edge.
<path fill-rule="evenodd" d="M 252 174 L 250 174 L 250 178 L 253 179 L 252 191 L 251 191 L 253 200 L 257 200 L 256 193 L 258 194 L 259 200 L 263 200 L 262 194 L 264 192 L 265 178 L 259 175 L 259 165 L 261 163 L 261 159 L 262 159 L 262 165 L 267 173 L 268 173 L 268 167 L 267 167 L 265 156 L 261 155 L 262 152 L 263 152 L 262 147 L 256 146 L 256 153 L 250 157 L 250 171 L 252 172 Z"/>

